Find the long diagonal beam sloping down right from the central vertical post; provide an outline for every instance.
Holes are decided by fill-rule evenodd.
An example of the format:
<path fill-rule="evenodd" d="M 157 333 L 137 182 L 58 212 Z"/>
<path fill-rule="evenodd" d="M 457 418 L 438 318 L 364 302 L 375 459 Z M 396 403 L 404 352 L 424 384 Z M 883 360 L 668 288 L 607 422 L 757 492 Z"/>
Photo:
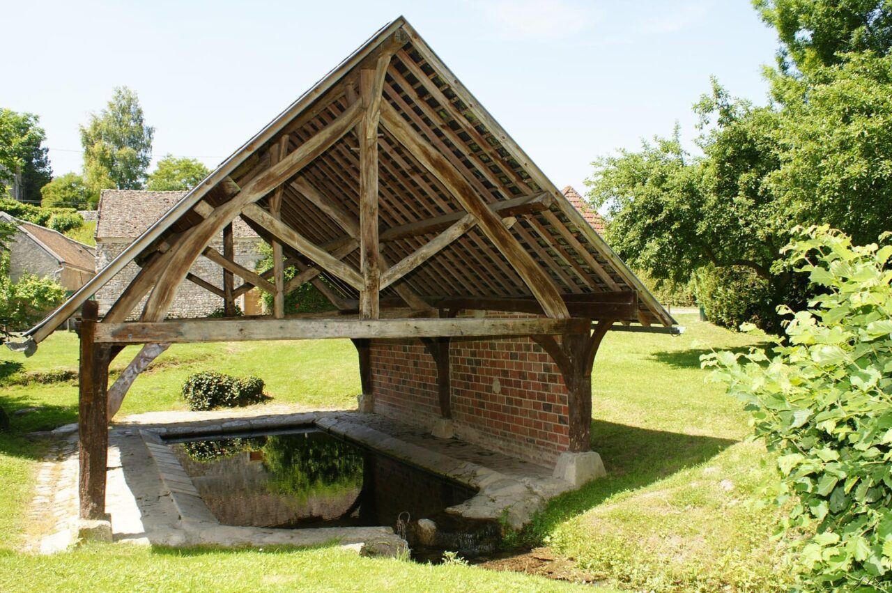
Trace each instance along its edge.
<path fill-rule="evenodd" d="M 431 172 L 452 194 L 468 213 L 475 215 L 478 225 L 490 241 L 496 246 L 516 273 L 533 292 L 533 296 L 541 303 L 549 317 L 564 318 L 570 314 L 564 301 L 560 299 L 558 288 L 551 278 L 533 260 L 524 247 L 517 243 L 514 235 L 502 224 L 501 218 L 483 202 L 474 188 L 462 177 L 450 161 L 436 152 L 430 144 L 417 138 L 414 129 L 410 128 L 401 115 L 390 103 L 382 103 L 381 121 L 400 144 Z"/>

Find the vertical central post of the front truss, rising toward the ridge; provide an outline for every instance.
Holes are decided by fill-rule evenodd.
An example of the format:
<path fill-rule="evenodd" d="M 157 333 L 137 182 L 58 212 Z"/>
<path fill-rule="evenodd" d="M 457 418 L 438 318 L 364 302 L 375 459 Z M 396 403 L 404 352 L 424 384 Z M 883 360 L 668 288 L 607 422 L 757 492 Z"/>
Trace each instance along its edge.
<path fill-rule="evenodd" d="M 359 291 L 359 317 L 377 319 L 381 280 L 378 253 L 378 119 L 381 91 L 391 54 L 378 57 L 375 70 L 359 70 L 362 119 L 359 137 L 359 268 L 365 286 Z"/>

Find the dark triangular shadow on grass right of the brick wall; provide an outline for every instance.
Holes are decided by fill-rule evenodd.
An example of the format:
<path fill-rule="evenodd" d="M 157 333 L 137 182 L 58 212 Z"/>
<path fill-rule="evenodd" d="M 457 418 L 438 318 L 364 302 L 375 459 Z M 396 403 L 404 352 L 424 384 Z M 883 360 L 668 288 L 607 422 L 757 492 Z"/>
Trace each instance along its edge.
<path fill-rule="evenodd" d="M 549 501 L 520 534 L 523 546 L 541 544 L 554 528 L 574 515 L 597 507 L 607 498 L 658 482 L 686 467 L 715 457 L 738 441 L 679 432 L 652 431 L 636 426 L 591 423 L 591 449 L 604 460 L 607 477 Z"/>

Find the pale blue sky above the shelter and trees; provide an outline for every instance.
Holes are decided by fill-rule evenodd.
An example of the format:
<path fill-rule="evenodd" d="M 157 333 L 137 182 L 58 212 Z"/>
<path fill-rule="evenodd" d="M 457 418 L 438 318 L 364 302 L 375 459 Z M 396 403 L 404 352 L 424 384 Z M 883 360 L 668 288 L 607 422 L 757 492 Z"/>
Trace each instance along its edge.
<path fill-rule="evenodd" d="M 40 116 L 55 174 L 80 171 L 78 125 L 135 89 L 154 156 L 213 168 L 376 29 L 403 14 L 562 187 L 677 120 L 714 75 L 764 103 L 777 46 L 748 0 L 15 2 L 0 106 Z"/>

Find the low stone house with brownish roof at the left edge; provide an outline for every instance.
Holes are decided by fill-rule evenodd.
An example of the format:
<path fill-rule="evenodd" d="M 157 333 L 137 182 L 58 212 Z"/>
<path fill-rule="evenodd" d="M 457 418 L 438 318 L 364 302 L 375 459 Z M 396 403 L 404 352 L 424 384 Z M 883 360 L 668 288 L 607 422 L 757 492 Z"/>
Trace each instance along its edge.
<path fill-rule="evenodd" d="M 14 223 L 18 233 L 10 243 L 9 276 L 18 282 L 32 274 L 52 278 L 69 292 L 95 276 L 95 249 L 51 228 L 12 218 L 0 212 L 0 220 Z"/>

